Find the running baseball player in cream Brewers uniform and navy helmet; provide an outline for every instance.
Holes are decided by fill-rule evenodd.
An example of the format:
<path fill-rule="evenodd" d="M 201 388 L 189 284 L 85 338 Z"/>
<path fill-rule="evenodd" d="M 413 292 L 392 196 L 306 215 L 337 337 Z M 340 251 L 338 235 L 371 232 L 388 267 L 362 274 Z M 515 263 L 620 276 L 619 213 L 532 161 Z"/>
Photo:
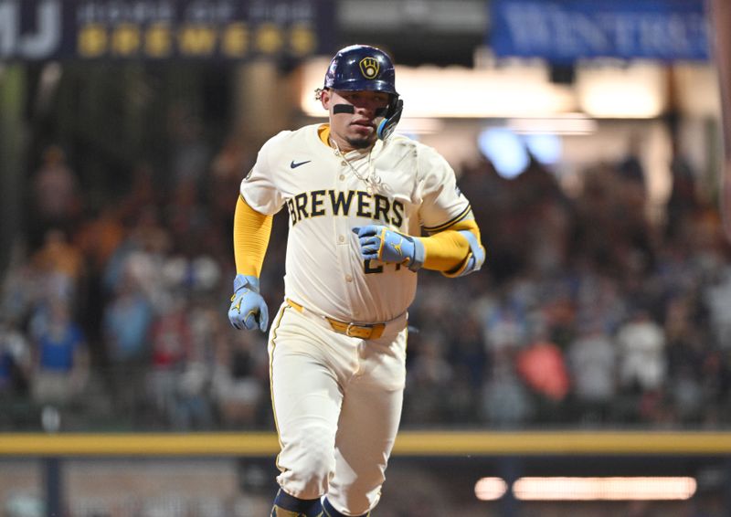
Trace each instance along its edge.
<path fill-rule="evenodd" d="M 403 102 L 384 51 L 341 49 L 316 94 L 329 123 L 266 142 L 234 216 L 228 318 L 265 332 L 260 271 L 272 216 L 289 215 L 285 300 L 268 345 L 278 517 L 376 506 L 401 415 L 417 271 L 460 277 L 485 255 L 450 165 L 392 134 Z"/>

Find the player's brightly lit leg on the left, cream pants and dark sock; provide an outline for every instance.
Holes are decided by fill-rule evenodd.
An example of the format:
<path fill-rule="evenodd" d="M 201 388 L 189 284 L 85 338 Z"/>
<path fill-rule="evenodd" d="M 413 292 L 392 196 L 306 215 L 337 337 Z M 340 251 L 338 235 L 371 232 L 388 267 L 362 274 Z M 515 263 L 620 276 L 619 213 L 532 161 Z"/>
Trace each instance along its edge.
<path fill-rule="evenodd" d="M 323 330 L 289 307 L 270 331 L 270 387 L 281 452 L 272 515 L 318 515 L 335 469 L 342 393 Z M 325 336 L 326 337 L 326 336 Z"/>

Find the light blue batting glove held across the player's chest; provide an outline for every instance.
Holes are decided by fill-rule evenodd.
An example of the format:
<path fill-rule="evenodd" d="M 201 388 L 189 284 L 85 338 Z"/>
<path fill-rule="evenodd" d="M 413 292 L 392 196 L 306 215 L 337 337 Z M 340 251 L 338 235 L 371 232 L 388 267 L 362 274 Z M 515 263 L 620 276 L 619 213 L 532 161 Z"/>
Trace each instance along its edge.
<path fill-rule="evenodd" d="M 406 264 L 412 271 L 424 264 L 424 245 L 418 238 L 380 225 L 355 227 L 353 233 L 358 236 L 360 256 L 365 260 Z"/>

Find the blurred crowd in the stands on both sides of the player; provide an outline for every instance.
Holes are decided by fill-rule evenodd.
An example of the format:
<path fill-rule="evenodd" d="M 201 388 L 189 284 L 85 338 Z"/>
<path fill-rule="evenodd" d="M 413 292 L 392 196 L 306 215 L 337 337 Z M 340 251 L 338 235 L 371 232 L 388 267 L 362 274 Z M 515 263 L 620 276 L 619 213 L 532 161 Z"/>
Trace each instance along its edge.
<path fill-rule="evenodd" d="M 0 430 L 273 428 L 266 336 L 226 316 L 255 154 L 183 130 L 170 170 L 138 163 L 113 195 L 85 195 L 57 145 L 29 171 L 0 277 Z M 459 280 L 419 273 L 404 427 L 726 426 L 729 246 L 694 171 L 668 167 L 651 221 L 632 157 L 582 171 L 571 195 L 535 161 L 515 179 L 457 164 L 487 260 Z M 275 217 L 274 309 L 286 232 Z"/>

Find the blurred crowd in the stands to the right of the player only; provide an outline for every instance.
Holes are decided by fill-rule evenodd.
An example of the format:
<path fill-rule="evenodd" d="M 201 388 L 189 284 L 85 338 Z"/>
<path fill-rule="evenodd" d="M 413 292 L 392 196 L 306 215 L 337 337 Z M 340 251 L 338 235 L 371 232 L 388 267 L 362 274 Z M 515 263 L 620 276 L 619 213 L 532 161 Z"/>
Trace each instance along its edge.
<path fill-rule="evenodd" d="M 668 167 L 656 222 L 634 156 L 570 196 L 535 162 L 514 180 L 463 167 L 488 270 L 423 279 L 405 424 L 726 426 L 729 246 L 687 161 Z"/>

